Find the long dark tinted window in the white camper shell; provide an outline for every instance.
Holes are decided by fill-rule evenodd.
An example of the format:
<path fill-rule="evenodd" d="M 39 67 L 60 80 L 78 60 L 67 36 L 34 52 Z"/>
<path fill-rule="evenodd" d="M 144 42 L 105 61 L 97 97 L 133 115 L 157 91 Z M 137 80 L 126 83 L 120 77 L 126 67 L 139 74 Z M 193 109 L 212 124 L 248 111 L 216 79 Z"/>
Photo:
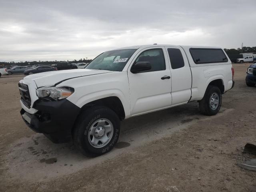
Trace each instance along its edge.
<path fill-rule="evenodd" d="M 228 62 L 222 49 L 190 48 L 189 51 L 195 64 Z"/>

